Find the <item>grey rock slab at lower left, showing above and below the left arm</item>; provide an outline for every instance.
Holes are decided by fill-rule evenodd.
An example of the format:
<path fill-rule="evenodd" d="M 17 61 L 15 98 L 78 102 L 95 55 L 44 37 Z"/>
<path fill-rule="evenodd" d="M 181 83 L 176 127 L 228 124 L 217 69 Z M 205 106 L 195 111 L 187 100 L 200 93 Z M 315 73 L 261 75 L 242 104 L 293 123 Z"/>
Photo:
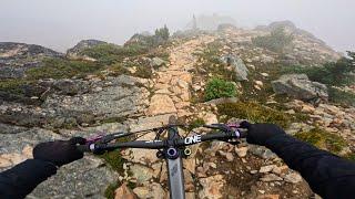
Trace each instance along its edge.
<path fill-rule="evenodd" d="M 1 134 L 0 155 L 21 155 L 28 146 L 33 148 L 42 142 L 65 139 L 51 130 L 41 128 L 21 132 L 19 127 L 13 127 L 13 130 L 16 133 L 9 130 Z M 8 168 L 0 168 L 0 171 Z M 40 184 L 28 198 L 104 198 L 105 188 L 116 178 L 118 175 L 105 167 L 101 159 L 85 156 L 83 159 L 61 167 L 57 175 Z"/>

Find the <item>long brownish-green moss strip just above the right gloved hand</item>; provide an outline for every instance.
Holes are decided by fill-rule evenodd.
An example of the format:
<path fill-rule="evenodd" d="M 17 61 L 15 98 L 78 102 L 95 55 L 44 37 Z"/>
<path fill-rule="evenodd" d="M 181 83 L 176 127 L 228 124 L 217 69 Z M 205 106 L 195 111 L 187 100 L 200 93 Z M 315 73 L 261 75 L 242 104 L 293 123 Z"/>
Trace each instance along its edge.
<path fill-rule="evenodd" d="M 255 102 L 237 102 L 219 105 L 220 115 L 243 118 L 255 123 L 272 123 L 287 127 L 292 122 L 298 121 L 295 116 L 275 108 L 263 106 Z"/>

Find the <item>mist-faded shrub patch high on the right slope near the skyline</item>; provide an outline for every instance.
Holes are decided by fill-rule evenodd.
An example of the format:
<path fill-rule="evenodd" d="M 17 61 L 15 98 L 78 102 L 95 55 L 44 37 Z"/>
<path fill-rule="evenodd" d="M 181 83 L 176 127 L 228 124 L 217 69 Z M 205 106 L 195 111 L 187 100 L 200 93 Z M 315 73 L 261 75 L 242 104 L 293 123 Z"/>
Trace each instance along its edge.
<path fill-rule="evenodd" d="M 286 34 L 284 28 L 280 27 L 270 35 L 256 36 L 252 39 L 254 45 L 265 48 L 270 51 L 282 53 L 293 41 L 293 35 Z"/>

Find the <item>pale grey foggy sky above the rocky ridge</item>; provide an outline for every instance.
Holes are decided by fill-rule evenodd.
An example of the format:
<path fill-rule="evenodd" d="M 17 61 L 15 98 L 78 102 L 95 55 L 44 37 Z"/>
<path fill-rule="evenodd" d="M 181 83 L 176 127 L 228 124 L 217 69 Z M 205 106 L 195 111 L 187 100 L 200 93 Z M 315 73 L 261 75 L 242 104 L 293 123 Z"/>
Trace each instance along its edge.
<path fill-rule="evenodd" d="M 65 51 L 82 39 L 122 44 L 135 32 L 183 29 L 219 13 L 242 27 L 291 20 L 338 50 L 355 51 L 355 0 L 0 0 L 0 41 Z"/>

